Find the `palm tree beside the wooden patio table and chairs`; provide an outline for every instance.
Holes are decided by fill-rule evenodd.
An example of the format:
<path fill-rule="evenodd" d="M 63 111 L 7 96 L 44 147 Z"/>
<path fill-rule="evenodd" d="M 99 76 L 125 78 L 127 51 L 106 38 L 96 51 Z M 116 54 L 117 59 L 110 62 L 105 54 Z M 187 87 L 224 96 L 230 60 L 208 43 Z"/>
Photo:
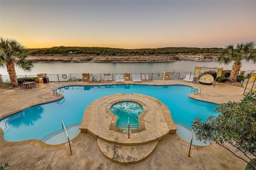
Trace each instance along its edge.
<path fill-rule="evenodd" d="M 15 39 L 0 37 L 0 67 L 6 66 L 12 86 L 18 86 L 15 64 L 25 71 L 31 71 L 32 61 L 27 61 L 28 50 Z"/>

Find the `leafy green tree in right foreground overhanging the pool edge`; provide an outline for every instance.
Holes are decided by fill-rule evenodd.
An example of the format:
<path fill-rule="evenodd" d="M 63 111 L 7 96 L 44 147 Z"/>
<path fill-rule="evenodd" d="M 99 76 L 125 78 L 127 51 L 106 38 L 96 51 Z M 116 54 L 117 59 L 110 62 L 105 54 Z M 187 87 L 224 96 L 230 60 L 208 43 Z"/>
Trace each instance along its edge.
<path fill-rule="evenodd" d="M 196 138 L 205 143 L 216 141 L 223 147 L 229 143 L 245 156 L 248 153 L 256 156 L 256 92 L 248 92 L 241 102 L 220 104 L 215 111 L 218 117 L 212 115 L 205 123 L 199 117 L 192 121 Z M 256 165 L 252 168 L 256 170 Z"/>

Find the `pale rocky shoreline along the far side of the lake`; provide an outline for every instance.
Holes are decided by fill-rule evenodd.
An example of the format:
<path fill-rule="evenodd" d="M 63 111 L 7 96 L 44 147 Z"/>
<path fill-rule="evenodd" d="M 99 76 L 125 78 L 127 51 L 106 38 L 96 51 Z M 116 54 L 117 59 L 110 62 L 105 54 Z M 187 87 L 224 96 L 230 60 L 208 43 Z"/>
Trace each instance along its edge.
<path fill-rule="evenodd" d="M 153 56 L 96 56 L 96 55 L 67 55 L 67 56 L 28 56 L 35 63 L 132 63 L 132 62 L 174 62 L 180 60 L 215 61 L 219 54 L 179 54 Z"/>

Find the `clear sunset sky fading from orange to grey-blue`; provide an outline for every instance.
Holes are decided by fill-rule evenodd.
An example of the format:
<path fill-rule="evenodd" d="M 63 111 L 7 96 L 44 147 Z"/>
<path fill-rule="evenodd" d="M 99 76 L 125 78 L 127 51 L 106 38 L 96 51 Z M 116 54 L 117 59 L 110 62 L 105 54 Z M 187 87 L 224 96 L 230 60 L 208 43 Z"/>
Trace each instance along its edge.
<path fill-rule="evenodd" d="M 0 0 L 0 36 L 27 48 L 224 48 L 256 42 L 256 0 Z"/>

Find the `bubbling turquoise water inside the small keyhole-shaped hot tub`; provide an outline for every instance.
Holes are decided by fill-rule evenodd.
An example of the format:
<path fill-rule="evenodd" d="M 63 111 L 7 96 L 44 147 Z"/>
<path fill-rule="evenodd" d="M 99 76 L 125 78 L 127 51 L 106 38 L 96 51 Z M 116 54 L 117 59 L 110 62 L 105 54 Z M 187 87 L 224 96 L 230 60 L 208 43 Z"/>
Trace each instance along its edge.
<path fill-rule="evenodd" d="M 138 116 L 142 113 L 143 107 L 136 102 L 118 102 L 110 107 L 110 111 L 117 116 L 116 127 L 128 129 L 128 117 L 130 129 L 140 127 Z"/>

